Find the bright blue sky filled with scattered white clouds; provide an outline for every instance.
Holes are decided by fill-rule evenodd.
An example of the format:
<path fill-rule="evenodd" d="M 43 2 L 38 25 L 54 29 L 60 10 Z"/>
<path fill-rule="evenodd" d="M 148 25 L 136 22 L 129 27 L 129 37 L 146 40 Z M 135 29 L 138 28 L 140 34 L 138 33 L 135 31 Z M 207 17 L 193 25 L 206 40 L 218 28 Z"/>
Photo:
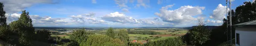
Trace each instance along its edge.
<path fill-rule="evenodd" d="M 245 1 L 232 0 L 232 8 Z M 189 27 L 222 25 L 226 0 L 0 0 L 7 23 L 29 12 L 33 26 Z"/>

